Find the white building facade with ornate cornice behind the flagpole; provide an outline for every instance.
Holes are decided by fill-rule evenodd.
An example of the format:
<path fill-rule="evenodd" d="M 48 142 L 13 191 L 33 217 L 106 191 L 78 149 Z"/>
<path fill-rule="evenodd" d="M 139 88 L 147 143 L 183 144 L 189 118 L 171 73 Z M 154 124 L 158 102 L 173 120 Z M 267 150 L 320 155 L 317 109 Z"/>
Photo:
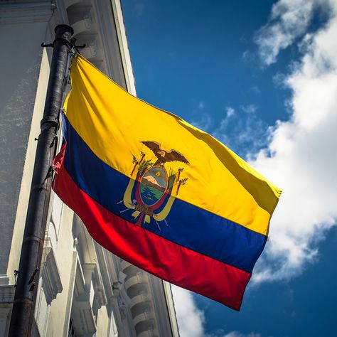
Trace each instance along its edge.
<path fill-rule="evenodd" d="M 9 329 L 55 26 L 136 94 L 119 0 L 0 1 L 0 336 Z M 97 245 L 52 193 L 34 336 L 178 336 L 168 283 Z"/>

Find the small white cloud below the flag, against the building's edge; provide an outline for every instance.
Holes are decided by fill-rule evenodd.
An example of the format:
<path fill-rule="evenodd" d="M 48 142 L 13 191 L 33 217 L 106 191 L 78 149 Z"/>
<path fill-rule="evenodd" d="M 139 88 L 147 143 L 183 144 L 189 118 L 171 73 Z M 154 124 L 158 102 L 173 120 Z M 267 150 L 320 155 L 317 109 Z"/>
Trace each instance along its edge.
<path fill-rule="evenodd" d="M 205 336 L 203 311 L 198 309 L 190 291 L 171 285 L 181 337 Z"/>

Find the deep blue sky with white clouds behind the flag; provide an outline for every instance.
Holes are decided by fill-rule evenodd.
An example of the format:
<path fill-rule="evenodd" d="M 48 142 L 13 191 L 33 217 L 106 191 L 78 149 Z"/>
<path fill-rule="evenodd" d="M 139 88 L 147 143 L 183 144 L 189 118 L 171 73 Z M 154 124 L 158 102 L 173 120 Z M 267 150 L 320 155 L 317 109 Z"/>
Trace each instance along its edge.
<path fill-rule="evenodd" d="M 138 97 L 284 190 L 242 310 L 174 289 L 181 336 L 336 336 L 337 1 L 122 6 Z"/>

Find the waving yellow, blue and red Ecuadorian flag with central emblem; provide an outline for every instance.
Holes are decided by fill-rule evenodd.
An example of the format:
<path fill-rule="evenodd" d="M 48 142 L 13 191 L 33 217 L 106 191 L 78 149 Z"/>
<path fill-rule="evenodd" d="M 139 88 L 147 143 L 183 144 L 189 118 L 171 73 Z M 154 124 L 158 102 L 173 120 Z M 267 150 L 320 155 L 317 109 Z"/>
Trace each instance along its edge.
<path fill-rule="evenodd" d="M 281 190 L 78 55 L 53 188 L 110 252 L 239 310 Z"/>

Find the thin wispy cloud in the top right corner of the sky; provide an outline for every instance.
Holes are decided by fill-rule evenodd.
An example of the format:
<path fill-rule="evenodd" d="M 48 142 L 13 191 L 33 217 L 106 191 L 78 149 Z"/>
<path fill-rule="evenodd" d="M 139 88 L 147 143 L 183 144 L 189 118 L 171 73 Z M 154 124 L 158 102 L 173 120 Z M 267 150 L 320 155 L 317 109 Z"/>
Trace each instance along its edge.
<path fill-rule="evenodd" d="M 334 0 L 279 0 L 272 6 L 269 22 L 255 36 L 265 65 L 277 60 L 280 50 L 301 38 L 311 23 L 316 9 L 328 11 Z"/>

